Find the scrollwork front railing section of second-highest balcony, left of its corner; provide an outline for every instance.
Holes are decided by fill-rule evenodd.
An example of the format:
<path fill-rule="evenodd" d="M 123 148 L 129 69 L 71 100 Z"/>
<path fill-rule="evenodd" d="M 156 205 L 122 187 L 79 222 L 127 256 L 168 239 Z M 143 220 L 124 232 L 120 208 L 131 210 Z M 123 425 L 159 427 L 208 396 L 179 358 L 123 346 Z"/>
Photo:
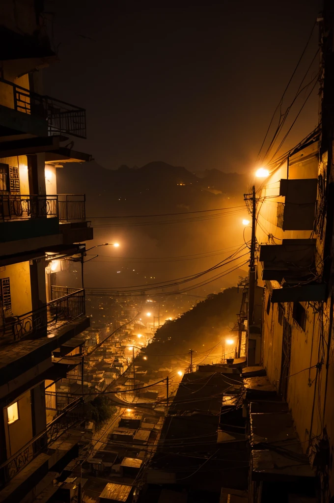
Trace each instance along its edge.
<path fill-rule="evenodd" d="M 0 195 L 0 220 L 57 216 L 58 196 Z"/>

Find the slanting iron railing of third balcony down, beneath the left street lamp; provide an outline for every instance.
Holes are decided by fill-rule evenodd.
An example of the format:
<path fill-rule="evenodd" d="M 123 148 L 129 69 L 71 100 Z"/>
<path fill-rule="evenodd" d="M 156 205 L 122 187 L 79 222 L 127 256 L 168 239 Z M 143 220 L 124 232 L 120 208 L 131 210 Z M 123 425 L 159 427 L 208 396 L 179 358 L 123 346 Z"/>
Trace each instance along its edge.
<path fill-rule="evenodd" d="M 45 337 L 60 326 L 85 315 L 85 290 L 76 290 L 47 302 L 40 309 L 5 317 L 0 326 L 0 344 L 17 342 L 24 338 Z"/>

